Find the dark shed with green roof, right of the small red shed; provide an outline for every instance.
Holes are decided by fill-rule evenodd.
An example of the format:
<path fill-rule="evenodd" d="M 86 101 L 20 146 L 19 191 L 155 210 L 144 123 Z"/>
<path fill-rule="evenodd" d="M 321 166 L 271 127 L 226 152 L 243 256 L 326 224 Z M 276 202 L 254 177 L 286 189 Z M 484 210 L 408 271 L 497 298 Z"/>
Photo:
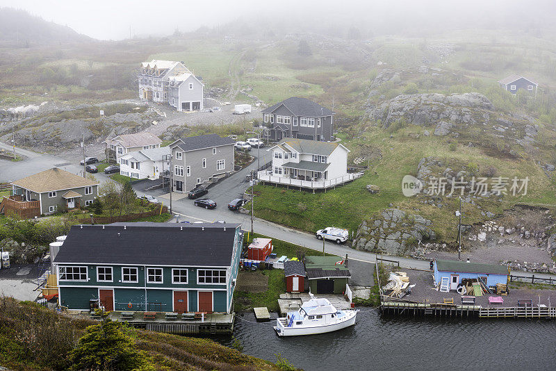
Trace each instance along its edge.
<path fill-rule="evenodd" d="M 305 270 L 315 294 L 341 294 L 351 277 L 339 256 L 305 256 Z"/>

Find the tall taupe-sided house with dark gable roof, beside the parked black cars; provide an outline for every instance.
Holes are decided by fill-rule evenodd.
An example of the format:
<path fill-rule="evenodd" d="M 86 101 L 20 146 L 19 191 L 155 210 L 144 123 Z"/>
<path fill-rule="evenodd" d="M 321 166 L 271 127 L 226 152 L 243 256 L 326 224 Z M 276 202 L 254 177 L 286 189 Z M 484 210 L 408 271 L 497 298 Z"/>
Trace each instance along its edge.
<path fill-rule="evenodd" d="M 218 134 L 182 138 L 170 145 L 174 190 L 188 192 L 213 176 L 234 171 L 234 140 Z"/>

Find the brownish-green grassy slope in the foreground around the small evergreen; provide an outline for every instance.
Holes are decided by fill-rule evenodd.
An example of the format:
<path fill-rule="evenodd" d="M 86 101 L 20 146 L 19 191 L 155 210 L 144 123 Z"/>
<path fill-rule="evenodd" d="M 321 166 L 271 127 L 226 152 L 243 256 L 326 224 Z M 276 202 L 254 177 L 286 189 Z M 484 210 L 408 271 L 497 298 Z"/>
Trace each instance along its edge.
<path fill-rule="evenodd" d="M 79 338 L 98 323 L 0 297 L 0 365 L 11 370 L 67 370 Z M 278 370 L 208 339 L 136 329 L 124 332 L 135 351 L 142 352 L 141 370 Z"/>

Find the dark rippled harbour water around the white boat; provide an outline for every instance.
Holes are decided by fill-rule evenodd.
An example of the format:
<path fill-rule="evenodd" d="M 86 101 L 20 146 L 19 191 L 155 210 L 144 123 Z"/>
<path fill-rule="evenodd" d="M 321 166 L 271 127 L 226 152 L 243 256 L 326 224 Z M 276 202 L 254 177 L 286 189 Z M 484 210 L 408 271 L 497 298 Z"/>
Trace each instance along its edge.
<path fill-rule="evenodd" d="M 363 308 L 350 329 L 279 338 L 275 321 L 240 318 L 234 336 L 245 354 L 276 361 L 280 353 L 306 371 L 556 370 L 555 321 L 387 319 Z"/>

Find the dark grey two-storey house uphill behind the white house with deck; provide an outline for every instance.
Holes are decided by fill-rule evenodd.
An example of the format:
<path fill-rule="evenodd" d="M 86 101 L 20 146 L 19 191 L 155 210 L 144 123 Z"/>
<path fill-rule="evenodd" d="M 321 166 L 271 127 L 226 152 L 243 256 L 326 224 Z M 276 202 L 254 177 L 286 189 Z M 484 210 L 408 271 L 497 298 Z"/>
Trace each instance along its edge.
<path fill-rule="evenodd" d="M 334 128 L 332 110 L 305 98 L 292 97 L 263 111 L 264 138 L 331 141 Z"/>

